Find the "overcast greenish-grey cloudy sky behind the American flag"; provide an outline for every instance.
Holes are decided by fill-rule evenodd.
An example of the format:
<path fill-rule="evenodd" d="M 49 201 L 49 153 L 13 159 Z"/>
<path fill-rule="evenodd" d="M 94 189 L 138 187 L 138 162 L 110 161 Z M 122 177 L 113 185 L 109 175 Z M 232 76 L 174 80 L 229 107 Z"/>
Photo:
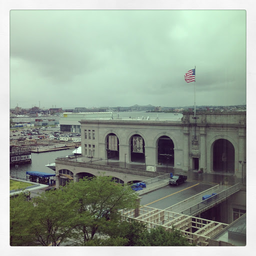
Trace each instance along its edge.
<path fill-rule="evenodd" d="M 11 10 L 10 107 L 246 103 L 245 10 Z"/>

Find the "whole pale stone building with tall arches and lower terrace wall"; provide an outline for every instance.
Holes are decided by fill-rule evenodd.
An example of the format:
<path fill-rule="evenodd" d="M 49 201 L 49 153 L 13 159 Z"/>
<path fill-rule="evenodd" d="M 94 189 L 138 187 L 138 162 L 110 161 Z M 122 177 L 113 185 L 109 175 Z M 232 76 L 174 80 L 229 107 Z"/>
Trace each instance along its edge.
<path fill-rule="evenodd" d="M 160 175 L 157 168 L 163 165 L 175 171 L 203 168 L 208 173 L 228 173 L 236 177 L 246 175 L 245 166 L 239 163 L 246 161 L 245 111 L 198 112 L 196 118 L 193 112 L 183 112 L 183 117 L 175 120 L 87 118 L 81 119 L 79 123 L 79 164 L 67 159 L 56 160 L 57 179 L 65 174 L 62 170 L 71 173 L 68 178 L 74 180 L 82 177 L 79 173 L 97 175 L 105 171 L 104 164 L 87 164 L 88 158 L 98 161 L 114 159 L 120 164 L 142 163 L 145 165 L 143 171 L 138 169 L 132 172 L 132 175 L 141 176 L 147 173 L 152 176 L 152 171 L 146 171 L 146 167 L 155 167 Z M 128 169 L 120 169 L 119 172 L 125 171 Z M 109 168 L 106 172 L 113 175 Z M 132 177 L 135 179 L 134 175 Z M 119 178 L 122 179 L 120 175 Z M 125 182 L 125 179 L 122 180 Z"/>

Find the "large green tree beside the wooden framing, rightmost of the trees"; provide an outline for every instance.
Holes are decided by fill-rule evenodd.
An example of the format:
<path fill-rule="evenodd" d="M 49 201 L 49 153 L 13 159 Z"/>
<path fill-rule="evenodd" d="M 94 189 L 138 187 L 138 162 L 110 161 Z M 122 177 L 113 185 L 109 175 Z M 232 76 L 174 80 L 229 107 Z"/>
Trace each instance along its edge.
<path fill-rule="evenodd" d="M 79 245 L 86 245 L 95 235 L 111 235 L 120 220 L 118 209 L 137 206 L 137 194 L 128 185 L 114 183 L 107 176 L 68 183 L 65 191 L 78 202 L 73 237 Z"/>

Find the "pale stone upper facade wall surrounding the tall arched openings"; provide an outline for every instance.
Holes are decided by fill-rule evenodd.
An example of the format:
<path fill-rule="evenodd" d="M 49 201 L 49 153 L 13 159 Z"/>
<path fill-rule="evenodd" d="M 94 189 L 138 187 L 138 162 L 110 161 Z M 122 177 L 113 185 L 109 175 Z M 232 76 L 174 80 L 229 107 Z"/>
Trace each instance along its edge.
<path fill-rule="evenodd" d="M 124 162 L 125 158 L 129 162 L 132 136 L 136 134 L 143 138 L 143 154 L 150 166 L 159 163 L 158 142 L 162 137 L 173 142 L 173 167 L 184 171 L 203 168 L 204 172 L 212 172 L 219 168 L 241 176 L 239 160 L 246 160 L 246 112 L 200 112 L 196 118 L 192 112 L 184 112 L 178 121 L 86 119 L 80 123 L 84 156 L 106 159 L 108 135 L 113 134 L 118 138 L 119 161 Z M 217 140 L 228 144 L 222 156 Z M 220 164 L 227 167 L 219 167 Z"/>

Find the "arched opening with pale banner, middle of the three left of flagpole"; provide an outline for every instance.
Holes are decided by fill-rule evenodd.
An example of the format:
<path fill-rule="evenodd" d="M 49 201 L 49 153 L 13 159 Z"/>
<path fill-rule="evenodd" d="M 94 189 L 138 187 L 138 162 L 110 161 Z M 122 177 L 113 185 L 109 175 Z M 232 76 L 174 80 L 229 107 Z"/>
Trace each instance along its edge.
<path fill-rule="evenodd" d="M 144 139 L 134 134 L 130 141 L 130 160 L 133 162 L 145 162 L 145 142 Z"/>

